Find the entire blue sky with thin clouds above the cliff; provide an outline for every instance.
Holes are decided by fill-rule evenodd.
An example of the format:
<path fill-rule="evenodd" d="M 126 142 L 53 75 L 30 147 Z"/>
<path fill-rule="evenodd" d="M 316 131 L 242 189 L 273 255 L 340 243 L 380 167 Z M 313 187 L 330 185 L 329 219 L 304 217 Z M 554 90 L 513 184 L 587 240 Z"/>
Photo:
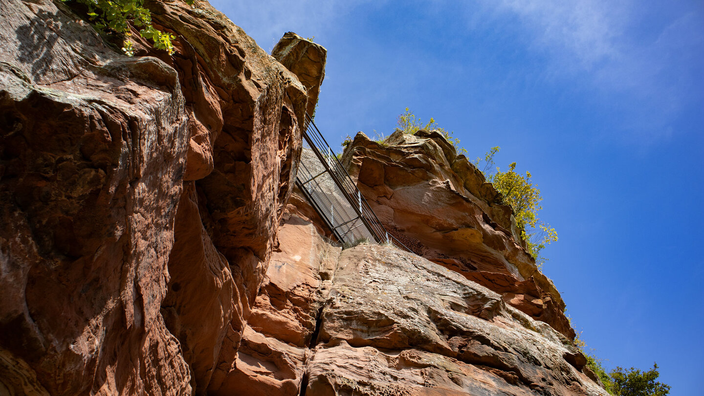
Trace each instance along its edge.
<path fill-rule="evenodd" d="M 316 123 L 393 132 L 407 106 L 470 157 L 501 146 L 560 240 L 543 267 L 607 369 L 704 376 L 703 1 L 212 1 L 270 51 L 328 49 Z M 617 3 L 617 4 L 616 4 Z"/>

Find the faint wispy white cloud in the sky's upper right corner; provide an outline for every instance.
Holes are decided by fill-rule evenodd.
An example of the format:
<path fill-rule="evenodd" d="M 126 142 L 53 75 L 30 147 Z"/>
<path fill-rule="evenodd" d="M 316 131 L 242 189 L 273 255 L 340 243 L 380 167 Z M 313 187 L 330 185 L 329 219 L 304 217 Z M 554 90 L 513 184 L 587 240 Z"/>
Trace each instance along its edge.
<path fill-rule="evenodd" d="M 704 88 L 700 10 L 683 11 L 658 31 L 634 1 L 501 0 L 489 7 L 520 21 L 529 48 L 546 54 L 543 73 L 612 101 L 623 130 L 640 142 L 669 137 L 684 106 L 702 99 L 692 91 L 693 84 Z"/>

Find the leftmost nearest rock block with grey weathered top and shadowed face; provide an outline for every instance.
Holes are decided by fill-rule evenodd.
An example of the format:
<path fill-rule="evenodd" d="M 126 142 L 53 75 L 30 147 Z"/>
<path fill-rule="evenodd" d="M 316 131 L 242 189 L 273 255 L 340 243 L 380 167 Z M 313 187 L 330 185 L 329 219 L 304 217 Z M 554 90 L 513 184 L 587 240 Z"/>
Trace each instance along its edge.
<path fill-rule="evenodd" d="M 188 141 L 177 73 L 51 1 L 3 1 L 0 20 L 2 382 L 188 394 L 160 311 Z"/>

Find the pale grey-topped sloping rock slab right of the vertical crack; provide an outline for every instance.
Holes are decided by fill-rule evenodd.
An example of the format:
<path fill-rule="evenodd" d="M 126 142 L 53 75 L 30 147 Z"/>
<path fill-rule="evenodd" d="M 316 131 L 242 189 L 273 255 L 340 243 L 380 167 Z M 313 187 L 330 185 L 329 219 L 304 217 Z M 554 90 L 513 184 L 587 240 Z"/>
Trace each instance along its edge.
<path fill-rule="evenodd" d="M 564 335 L 395 247 L 342 252 L 319 342 L 306 395 L 606 394 Z"/>

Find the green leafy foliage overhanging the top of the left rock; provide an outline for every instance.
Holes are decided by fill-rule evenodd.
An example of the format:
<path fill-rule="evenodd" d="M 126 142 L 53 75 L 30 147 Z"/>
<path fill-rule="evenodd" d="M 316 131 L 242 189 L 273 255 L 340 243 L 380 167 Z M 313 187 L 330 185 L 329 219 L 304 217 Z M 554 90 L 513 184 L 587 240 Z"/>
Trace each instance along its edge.
<path fill-rule="evenodd" d="M 175 39 L 175 37 L 170 33 L 161 32 L 151 25 L 151 13 L 144 8 L 144 0 L 74 1 L 87 6 L 88 16 L 98 30 L 129 37 L 131 35 L 131 24 L 139 29 L 139 35 L 146 39 L 151 39 L 154 48 L 163 49 L 169 54 L 173 54 L 174 46 L 171 40 Z M 185 1 L 187 4 L 192 5 L 195 0 Z M 124 40 L 122 51 L 127 56 L 134 55 L 134 48 L 130 39 Z"/>

